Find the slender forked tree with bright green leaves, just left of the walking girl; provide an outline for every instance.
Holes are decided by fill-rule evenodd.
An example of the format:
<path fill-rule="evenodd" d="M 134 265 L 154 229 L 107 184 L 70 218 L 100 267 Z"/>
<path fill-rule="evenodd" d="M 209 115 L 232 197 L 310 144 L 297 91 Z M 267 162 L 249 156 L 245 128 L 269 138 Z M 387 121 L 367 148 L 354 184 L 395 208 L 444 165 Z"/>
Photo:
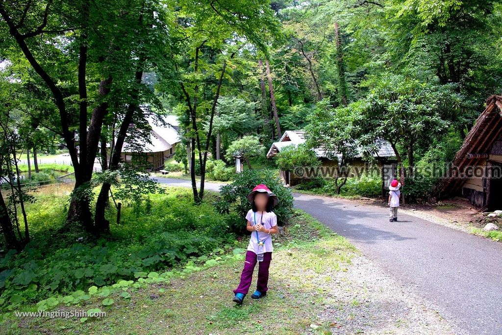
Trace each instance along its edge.
<path fill-rule="evenodd" d="M 276 29 L 277 20 L 268 2 L 178 3 L 175 62 L 180 78 L 184 127 L 190 145 L 190 174 L 194 200 L 204 196 L 205 166 L 211 141 L 218 98 L 228 78 L 227 68 L 244 48 L 266 51 L 265 38 Z M 237 13 L 237 15 L 236 15 Z M 202 127 L 202 122 L 206 123 Z M 196 183 L 196 153 L 200 164 L 200 189 Z"/>

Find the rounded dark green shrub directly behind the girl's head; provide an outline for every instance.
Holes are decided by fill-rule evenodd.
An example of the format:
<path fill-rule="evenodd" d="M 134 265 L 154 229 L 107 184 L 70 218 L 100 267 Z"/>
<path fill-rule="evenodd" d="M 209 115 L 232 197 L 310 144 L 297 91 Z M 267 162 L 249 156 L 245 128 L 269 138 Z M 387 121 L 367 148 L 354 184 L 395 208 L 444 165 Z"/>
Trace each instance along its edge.
<path fill-rule="evenodd" d="M 292 214 L 293 195 L 291 190 L 284 187 L 274 171 L 270 170 L 244 170 L 235 180 L 228 185 L 220 187 L 220 199 L 215 203 L 220 213 L 232 213 L 230 225 L 233 231 L 245 231 L 245 215 L 251 208 L 247 195 L 258 184 L 265 184 L 279 198 L 279 203 L 273 211 L 277 215 L 278 223 L 288 224 Z"/>

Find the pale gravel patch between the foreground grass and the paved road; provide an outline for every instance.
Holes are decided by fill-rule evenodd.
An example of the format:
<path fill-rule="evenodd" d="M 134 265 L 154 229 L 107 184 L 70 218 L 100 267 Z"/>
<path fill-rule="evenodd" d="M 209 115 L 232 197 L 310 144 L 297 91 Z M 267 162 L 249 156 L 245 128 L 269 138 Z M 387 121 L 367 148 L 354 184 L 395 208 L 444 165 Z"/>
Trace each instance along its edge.
<path fill-rule="evenodd" d="M 365 256 L 355 256 L 346 272 L 319 281 L 328 297 L 320 319 L 336 334 L 453 334 L 452 326 L 413 287 L 404 285 Z M 326 285 L 328 284 L 328 285 Z"/>

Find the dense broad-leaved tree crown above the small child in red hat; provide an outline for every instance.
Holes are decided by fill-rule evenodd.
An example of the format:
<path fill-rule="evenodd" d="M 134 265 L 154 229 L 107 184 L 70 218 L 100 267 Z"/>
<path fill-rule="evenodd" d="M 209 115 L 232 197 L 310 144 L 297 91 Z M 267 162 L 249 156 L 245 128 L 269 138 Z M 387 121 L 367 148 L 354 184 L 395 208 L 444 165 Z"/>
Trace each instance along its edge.
<path fill-rule="evenodd" d="M 388 73 L 366 84 L 371 92 L 350 106 L 361 116 L 361 142 L 371 145 L 384 139 L 402 148 L 398 160 L 407 155 L 410 165 L 417 149 L 428 148 L 446 132 L 461 104 L 454 86 L 406 75 Z"/>

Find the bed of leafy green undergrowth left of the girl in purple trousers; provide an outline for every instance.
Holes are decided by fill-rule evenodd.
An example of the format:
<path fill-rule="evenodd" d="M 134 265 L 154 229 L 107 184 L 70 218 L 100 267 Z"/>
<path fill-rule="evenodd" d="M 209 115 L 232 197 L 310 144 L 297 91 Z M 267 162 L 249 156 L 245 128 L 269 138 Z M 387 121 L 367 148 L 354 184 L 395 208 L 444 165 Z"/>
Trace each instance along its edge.
<path fill-rule="evenodd" d="M 209 254 L 235 238 L 222 226 L 226 216 L 215 212 L 210 203 L 194 205 L 189 189 L 149 197 L 150 205 L 138 201 L 122 206 L 120 225 L 111 225 L 108 238 L 92 241 L 84 237 L 75 242 L 72 237 L 52 245 L 33 242 L 21 254 L 7 253 L 0 259 L 0 307 L 13 309 L 24 302 L 74 290 L 93 295 L 96 288 L 92 286 L 134 279 L 142 271 L 153 276 L 155 271 Z M 57 197 L 55 200 L 64 202 Z M 54 204 L 52 212 L 60 226 L 64 215 Z M 31 216 L 30 222 L 47 229 L 50 236 L 51 227 L 45 225 L 52 222 L 43 221 L 44 217 Z M 40 237 L 39 230 L 33 234 Z"/>

